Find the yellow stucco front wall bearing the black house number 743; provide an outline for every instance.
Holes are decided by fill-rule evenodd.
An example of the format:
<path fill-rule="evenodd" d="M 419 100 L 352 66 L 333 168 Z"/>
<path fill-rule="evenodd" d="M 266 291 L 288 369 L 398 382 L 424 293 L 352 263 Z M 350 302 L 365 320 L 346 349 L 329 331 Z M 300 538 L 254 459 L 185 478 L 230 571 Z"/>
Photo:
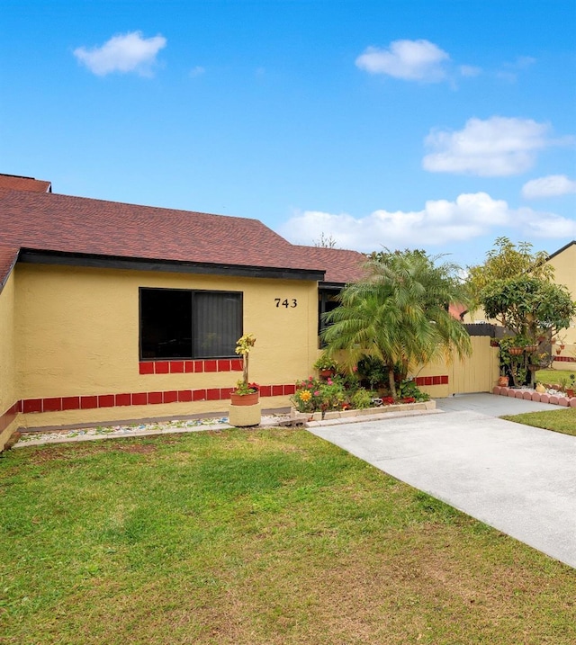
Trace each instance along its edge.
<path fill-rule="evenodd" d="M 231 388 L 239 372 L 139 374 L 139 287 L 243 291 L 244 331 L 257 336 L 251 381 L 305 378 L 318 354 L 316 282 L 18 264 L 15 309 L 20 399 Z M 275 298 L 297 301 L 276 307 Z M 262 400 L 264 408 L 288 397 Z M 228 409 L 227 401 L 23 415 L 35 427 Z"/>

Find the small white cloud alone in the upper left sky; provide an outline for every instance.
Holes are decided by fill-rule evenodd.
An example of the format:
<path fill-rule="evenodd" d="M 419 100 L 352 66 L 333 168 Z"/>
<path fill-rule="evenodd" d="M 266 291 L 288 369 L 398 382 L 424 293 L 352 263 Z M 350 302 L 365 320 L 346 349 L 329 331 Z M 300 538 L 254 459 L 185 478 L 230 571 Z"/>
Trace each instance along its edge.
<path fill-rule="evenodd" d="M 113 36 L 102 47 L 78 47 L 74 55 L 97 76 L 112 72 L 137 72 L 140 76 L 149 76 L 158 51 L 165 47 L 164 36 L 142 38 L 141 31 L 131 31 Z"/>

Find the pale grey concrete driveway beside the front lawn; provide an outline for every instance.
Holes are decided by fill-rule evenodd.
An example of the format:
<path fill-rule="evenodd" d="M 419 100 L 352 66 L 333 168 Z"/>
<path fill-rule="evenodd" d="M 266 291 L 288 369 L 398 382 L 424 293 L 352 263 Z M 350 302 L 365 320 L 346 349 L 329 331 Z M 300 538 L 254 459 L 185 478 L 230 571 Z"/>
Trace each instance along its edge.
<path fill-rule="evenodd" d="M 576 436 L 498 418 L 556 406 L 474 394 L 438 399 L 437 408 L 309 429 L 576 568 Z"/>

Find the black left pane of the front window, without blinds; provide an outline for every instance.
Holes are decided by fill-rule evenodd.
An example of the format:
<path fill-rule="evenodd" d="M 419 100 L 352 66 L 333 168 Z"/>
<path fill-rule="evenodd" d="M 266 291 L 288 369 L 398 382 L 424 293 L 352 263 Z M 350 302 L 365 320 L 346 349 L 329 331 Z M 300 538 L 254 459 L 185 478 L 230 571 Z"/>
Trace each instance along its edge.
<path fill-rule="evenodd" d="M 141 358 L 192 358 L 192 293 L 140 290 Z"/>

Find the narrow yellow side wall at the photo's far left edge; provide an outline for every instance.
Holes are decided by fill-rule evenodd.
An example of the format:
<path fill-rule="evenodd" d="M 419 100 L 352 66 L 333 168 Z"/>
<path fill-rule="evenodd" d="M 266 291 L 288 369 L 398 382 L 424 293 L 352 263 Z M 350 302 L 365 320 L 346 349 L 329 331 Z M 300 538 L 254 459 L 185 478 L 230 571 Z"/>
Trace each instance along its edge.
<path fill-rule="evenodd" d="M 14 376 L 14 273 L 0 292 L 0 416 L 18 400 Z M 0 450 L 12 433 L 16 419 L 9 426 L 0 426 Z"/>

